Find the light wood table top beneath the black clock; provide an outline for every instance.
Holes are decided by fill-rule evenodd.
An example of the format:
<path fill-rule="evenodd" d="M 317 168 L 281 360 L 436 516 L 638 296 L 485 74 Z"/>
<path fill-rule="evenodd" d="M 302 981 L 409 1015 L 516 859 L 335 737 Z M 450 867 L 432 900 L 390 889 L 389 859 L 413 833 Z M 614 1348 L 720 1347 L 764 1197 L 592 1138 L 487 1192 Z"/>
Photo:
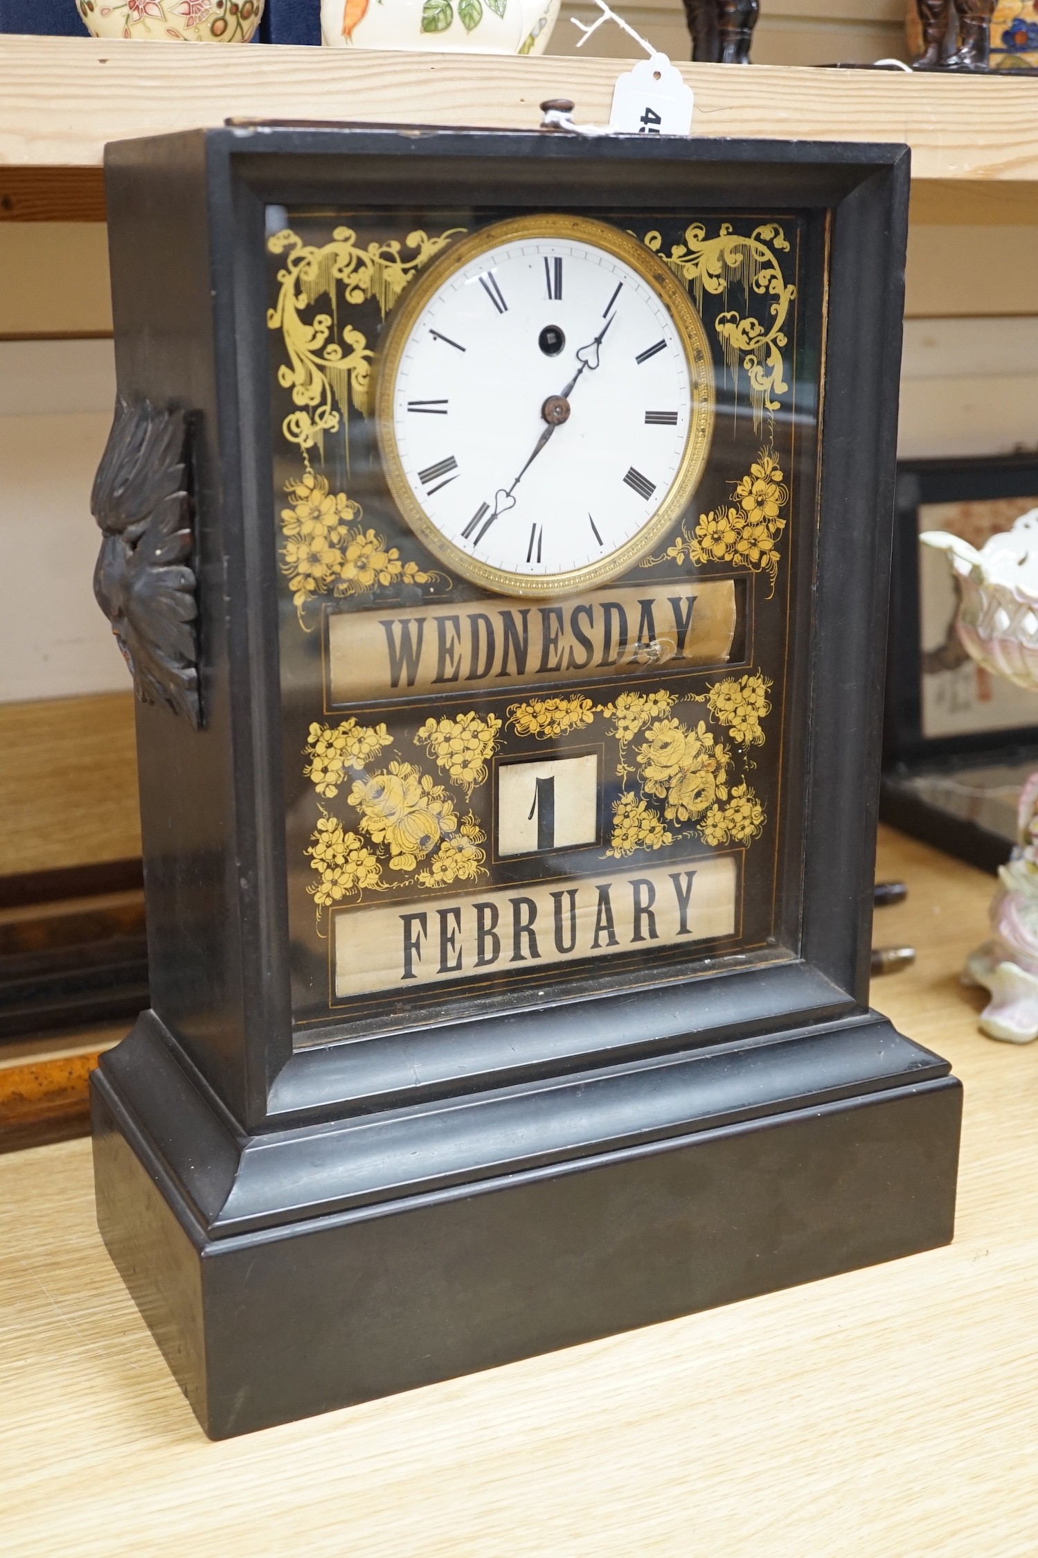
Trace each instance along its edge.
<path fill-rule="evenodd" d="M 87 1142 L 0 1159 L 5 1558 L 1038 1550 L 1038 1044 L 957 969 L 993 880 L 884 834 L 876 1005 L 966 1087 L 956 1242 L 210 1444 L 101 1246 Z"/>

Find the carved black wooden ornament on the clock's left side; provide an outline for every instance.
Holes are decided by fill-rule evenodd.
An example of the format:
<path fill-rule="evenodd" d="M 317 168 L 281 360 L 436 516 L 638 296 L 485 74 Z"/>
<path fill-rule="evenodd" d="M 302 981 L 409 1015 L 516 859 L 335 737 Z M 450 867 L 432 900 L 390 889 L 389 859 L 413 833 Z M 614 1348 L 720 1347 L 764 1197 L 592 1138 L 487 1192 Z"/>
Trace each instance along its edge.
<path fill-rule="evenodd" d="M 93 594 L 142 703 L 202 724 L 196 578 L 190 566 L 188 414 L 120 396 L 90 509 L 103 531 Z"/>

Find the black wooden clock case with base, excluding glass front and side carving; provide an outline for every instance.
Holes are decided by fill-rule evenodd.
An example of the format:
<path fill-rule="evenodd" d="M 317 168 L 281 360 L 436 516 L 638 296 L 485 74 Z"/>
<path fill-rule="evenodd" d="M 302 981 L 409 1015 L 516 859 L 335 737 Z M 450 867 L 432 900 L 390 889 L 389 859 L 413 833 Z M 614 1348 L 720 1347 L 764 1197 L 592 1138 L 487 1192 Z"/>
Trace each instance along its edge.
<path fill-rule="evenodd" d="M 907 150 L 232 125 L 106 168 L 120 394 L 191 421 L 202 728 L 137 704 L 153 1008 L 93 1077 L 96 1206 L 205 1432 L 948 1242 L 960 1086 L 868 1008 Z M 293 1052 L 265 204 L 431 190 L 831 213 L 800 955 Z"/>

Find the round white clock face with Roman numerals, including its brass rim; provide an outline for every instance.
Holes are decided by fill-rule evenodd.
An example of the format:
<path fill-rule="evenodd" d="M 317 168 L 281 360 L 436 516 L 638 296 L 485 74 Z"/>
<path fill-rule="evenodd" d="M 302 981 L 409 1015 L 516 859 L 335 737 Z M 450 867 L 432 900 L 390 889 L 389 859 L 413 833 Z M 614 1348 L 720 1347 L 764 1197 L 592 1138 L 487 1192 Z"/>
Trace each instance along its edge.
<path fill-rule="evenodd" d="M 686 506 L 711 427 L 699 315 L 604 223 L 496 223 L 392 316 L 378 382 L 391 491 L 439 558 L 490 589 L 622 573 Z"/>

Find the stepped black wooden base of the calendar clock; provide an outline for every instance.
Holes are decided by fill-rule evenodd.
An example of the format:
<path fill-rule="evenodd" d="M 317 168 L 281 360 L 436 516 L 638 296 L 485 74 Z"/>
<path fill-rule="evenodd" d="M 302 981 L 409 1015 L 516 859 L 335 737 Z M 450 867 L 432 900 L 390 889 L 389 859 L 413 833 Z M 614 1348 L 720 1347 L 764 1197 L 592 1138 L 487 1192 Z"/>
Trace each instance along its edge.
<path fill-rule="evenodd" d="M 145 1014 L 98 1221 L 224 1438 L 946 1243 L 960 1112 L 868 1013 L 244 1140 Z"/>

